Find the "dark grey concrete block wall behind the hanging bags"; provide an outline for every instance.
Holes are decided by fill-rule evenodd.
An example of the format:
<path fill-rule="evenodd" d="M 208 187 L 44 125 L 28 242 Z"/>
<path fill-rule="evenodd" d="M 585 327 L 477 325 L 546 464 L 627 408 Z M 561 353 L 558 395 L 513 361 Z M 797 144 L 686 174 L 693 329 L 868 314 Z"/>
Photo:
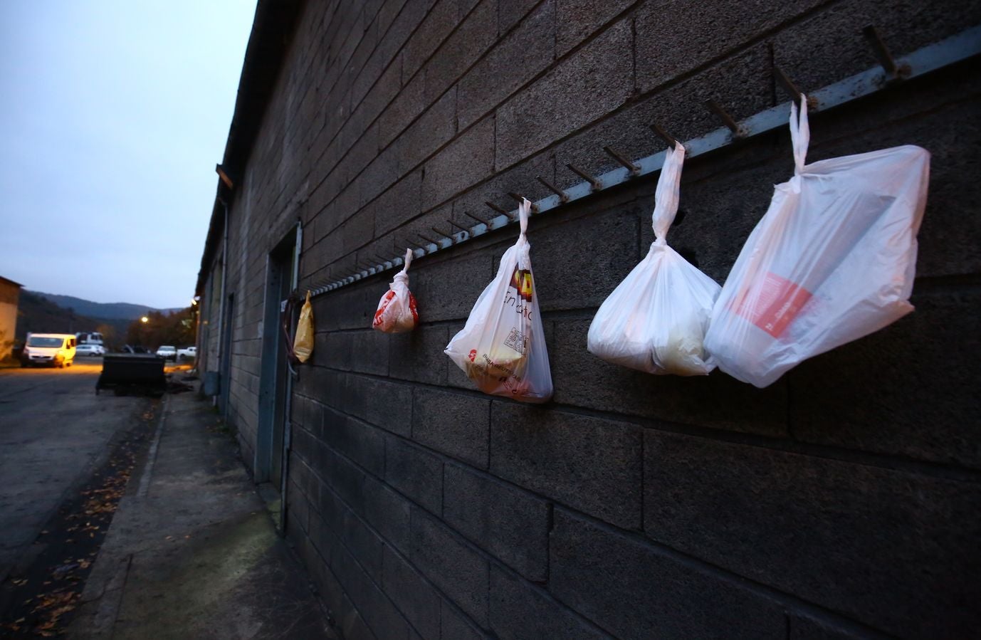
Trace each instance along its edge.
<path fill-rule="evenodd" d="M 266 255 L 301 288 L 981 23 L 904 0 L 309 2 L 232 202 L 232 420 L 257 424 Z M 811 120 L 812 160 L 933 154 L 915 313 L 765 390 L 586 349 L 652 240 L 654 180 L 533 218 L 554 400 L 473 389 L 442 353 L 514 229 L 418 259 L 421 326 L 370 329 L 391 273 L 319 296 L 292 404 L 287 533 L 346 638 L 968 637 L 981 614 L 976 61 Z M 718 282 L 793 171 L 789 135 L 685 168 L 670 241 Z M 213 331 L 214 337 L 218 332 Z M 246 457 L 246 459 L 250 459 Z"/>

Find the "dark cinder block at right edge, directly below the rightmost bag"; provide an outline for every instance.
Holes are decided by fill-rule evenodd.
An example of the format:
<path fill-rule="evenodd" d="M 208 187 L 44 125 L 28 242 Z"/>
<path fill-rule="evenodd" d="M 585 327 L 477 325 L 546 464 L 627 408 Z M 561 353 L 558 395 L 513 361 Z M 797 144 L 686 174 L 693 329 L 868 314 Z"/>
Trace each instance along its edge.
<path fill-rule="evenodd" d="M 919 289 L 910 315 L 788 374 L 796 439 L 981 468 L 981 295 Z"/>

